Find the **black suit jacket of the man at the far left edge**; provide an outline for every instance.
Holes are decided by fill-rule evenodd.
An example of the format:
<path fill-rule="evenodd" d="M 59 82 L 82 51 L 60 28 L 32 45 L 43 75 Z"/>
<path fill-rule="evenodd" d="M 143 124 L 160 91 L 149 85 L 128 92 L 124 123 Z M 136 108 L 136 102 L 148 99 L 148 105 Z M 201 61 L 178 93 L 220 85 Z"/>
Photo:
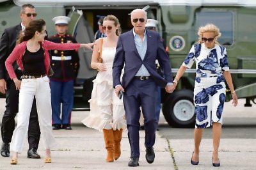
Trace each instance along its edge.
<path fill-rule="evenodd" d="M 10 79 L 8 72 L 6 71 L 4 62 L 12 53 L 12 50 L 16 45 L 16 41 L 19 38 L 20 31 L 20 24 L 4 29 L 4 33 L 0 40 L 0 79 Z M 17 68 L 17 63 L 13 63 L 13 69 L 17 70 Z"/>

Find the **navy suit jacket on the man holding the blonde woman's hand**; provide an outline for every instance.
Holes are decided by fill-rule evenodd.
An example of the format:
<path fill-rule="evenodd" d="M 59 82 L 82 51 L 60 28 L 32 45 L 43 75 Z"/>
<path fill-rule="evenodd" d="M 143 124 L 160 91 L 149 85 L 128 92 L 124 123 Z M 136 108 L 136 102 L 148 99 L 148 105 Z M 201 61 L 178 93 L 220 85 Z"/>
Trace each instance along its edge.
<path fill-rule="evenodd" d="M 134 43 L 133 29 L 119 36 L 116 54 L 113 62 L 113 86 L 121 84 L 120 75 L 124 67 L 122 87 L 125 89 L 134 78 L 141 65 L 145 65 L 148 72 L 158 86 L 164 87 L 167 82 L 172 82 L 172 70 L 161 36 L 156 31 L 147 30 L 147 51 L 142 60 Z M 164 78 L 156 70 L 156 59 L 163 69 Z"/>

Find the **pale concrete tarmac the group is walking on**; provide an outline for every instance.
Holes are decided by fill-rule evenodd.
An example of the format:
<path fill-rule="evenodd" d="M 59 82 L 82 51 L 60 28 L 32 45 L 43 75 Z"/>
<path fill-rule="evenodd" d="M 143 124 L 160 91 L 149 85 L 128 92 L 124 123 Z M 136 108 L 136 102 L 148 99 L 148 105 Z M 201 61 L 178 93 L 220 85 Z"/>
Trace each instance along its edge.
<path fill-rule="evenodd" d="M 1 118 L 4 111 L 3 103 L 3 99 L 0 99 Z M 191 139 L 175 139 L 175 136 L 166 139 L 161 130 L 156 134 L 154 145 L 156 158 L 152 164 L 148 164 L 145 159 L 145 132 L 140 131 L 140 166 L 127 166 L 130 157 L 127 130 L 123 133 L 120 158 L 108 163 L 103 134 L 81 123 L 86 116 L 88 112 L 72 112 L 72 130 L 52 131 L 58 147 L 51 151 L 51 164 L 44 163 L 42 143 L 38 148 L 41 158 L 27 158 L 28 142 L 26 139 L 18 164 L 10 165 L 11 153 L 11 157 L 0 157 L 0 169 L 256 169 L 256 139 L 239 139 L 238 137 L 237 139 L 221 139 L 221 167 L 212 167 L 212 139 L 204 139 L 200 146 L 200 163 L 198 166 L 192 166 L 190 159 L 193 151 L 193 134 L 191 134 Z M 159 123 L 160 125 L 166 124 L 163 116 Z"/>

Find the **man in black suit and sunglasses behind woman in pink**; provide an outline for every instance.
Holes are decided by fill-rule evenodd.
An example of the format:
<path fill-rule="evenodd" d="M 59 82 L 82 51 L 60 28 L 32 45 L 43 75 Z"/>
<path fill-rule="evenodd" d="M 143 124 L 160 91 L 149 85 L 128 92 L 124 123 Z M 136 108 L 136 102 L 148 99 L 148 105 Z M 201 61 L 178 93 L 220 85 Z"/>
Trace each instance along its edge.
<path fill-rule="evenodd" d="M 19 110 L 19 90 L 15 88 L 14 82 L 10 79 L 4 66 L 4 62 L 12 53 L 16 41 L 19 38 L 20 31 L 24 31 L 25 27 L 31 20 L 34 20 L 35 17 L 36 13 L 33 4 L 22 5 L 20 11 L 20 19 L 22 22 L 17 26 L 5 29 L 0 41 L 0 92 L 6 94 L 6 110 L 3 115 L 1 126 L 3 140 L 3 144 L 1 145 L 1 155 L 3 157 L 10 157 L 10 142 L 12 141 L 13 130 L 15 128 L 14 118 Z M 20 79 L 22 71 L 17 63 L 13 64 L 13 69 Z M 39 139 L 40 127 L 34 99 L 28 127 L 28 158 L 40 158 L 40 155 L 37 153 Z"/>

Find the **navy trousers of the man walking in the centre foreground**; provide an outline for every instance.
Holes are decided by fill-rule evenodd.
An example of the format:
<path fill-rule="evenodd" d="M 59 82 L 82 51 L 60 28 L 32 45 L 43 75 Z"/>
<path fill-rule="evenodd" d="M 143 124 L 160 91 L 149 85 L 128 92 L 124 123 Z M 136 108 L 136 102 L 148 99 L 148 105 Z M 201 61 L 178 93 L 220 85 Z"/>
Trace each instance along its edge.
<path fill-rule="evenodd" d="M 133 79 L 124 93 L 128 138 L 131 157 L 140 157 L 140 107 L 145 125 L 145 147 L 152 147 L 156 140 L 156 101 L 157 86 L 152 79 Z"/>

